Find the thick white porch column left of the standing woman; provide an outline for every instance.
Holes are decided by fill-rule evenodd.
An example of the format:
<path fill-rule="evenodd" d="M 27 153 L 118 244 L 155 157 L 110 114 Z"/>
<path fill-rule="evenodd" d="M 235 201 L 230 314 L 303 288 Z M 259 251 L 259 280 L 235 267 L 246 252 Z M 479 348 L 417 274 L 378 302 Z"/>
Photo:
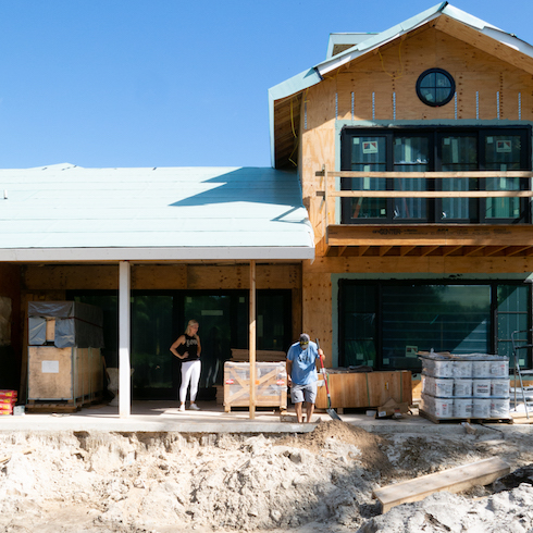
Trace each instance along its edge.
<path fill-rule="evenodd" d="M 132 287 L 129 261 L 119 263 L 119 414 L 131 414 L 129 367 L 129 292 Z"/>

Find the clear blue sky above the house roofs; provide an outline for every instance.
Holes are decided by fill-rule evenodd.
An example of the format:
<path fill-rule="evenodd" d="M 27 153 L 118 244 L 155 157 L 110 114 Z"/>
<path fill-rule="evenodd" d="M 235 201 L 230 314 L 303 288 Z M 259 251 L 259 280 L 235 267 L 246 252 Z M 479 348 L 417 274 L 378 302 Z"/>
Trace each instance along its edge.
<path fill-rule="evenodd" d="M 270 87 L 437 3 L 0 0 L 0 166 L 269 166 Z M 532 0 L 450 3 L 533 44 Z"/>

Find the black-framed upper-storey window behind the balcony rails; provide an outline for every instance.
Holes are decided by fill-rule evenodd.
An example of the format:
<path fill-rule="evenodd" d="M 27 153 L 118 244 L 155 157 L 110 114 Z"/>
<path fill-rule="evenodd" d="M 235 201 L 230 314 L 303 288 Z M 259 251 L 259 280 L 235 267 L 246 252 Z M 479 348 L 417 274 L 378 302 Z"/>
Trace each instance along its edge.
<path fill-rule="evenodd" d="M 460 172 L 531 170 L 530 127 L 355 128 L 342 134 L 343 171 Z M 343 177 L 343 190 L 442 190 L 443 198 L 343 198 L 342 222 L 354 223 L 529 223 L 521 198 L 454 198 L 450 191 L 529 190 L 525 178 Z"/>

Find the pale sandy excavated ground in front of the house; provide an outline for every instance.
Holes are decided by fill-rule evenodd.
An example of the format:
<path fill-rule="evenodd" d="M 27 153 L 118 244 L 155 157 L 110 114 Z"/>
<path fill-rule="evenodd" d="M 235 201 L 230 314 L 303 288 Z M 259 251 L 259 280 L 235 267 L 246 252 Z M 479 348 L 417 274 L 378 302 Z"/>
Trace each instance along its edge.
<path fill-rule="evenodd" d="M 533 436 L 0 434 L 0 532 L 533 532 Z M 498 456 L 513 474 L 381 515 L 372 491 Z"/>

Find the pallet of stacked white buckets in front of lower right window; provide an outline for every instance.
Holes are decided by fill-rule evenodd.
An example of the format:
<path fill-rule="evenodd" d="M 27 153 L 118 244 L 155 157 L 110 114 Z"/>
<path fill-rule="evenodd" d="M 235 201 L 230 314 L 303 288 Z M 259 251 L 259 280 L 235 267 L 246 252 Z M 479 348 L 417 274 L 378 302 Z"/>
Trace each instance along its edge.
<path fill-rule="evenodd" d="M 509 420 L 509 358 L 424 352 L 420 414 L 439 420 Z"/>

